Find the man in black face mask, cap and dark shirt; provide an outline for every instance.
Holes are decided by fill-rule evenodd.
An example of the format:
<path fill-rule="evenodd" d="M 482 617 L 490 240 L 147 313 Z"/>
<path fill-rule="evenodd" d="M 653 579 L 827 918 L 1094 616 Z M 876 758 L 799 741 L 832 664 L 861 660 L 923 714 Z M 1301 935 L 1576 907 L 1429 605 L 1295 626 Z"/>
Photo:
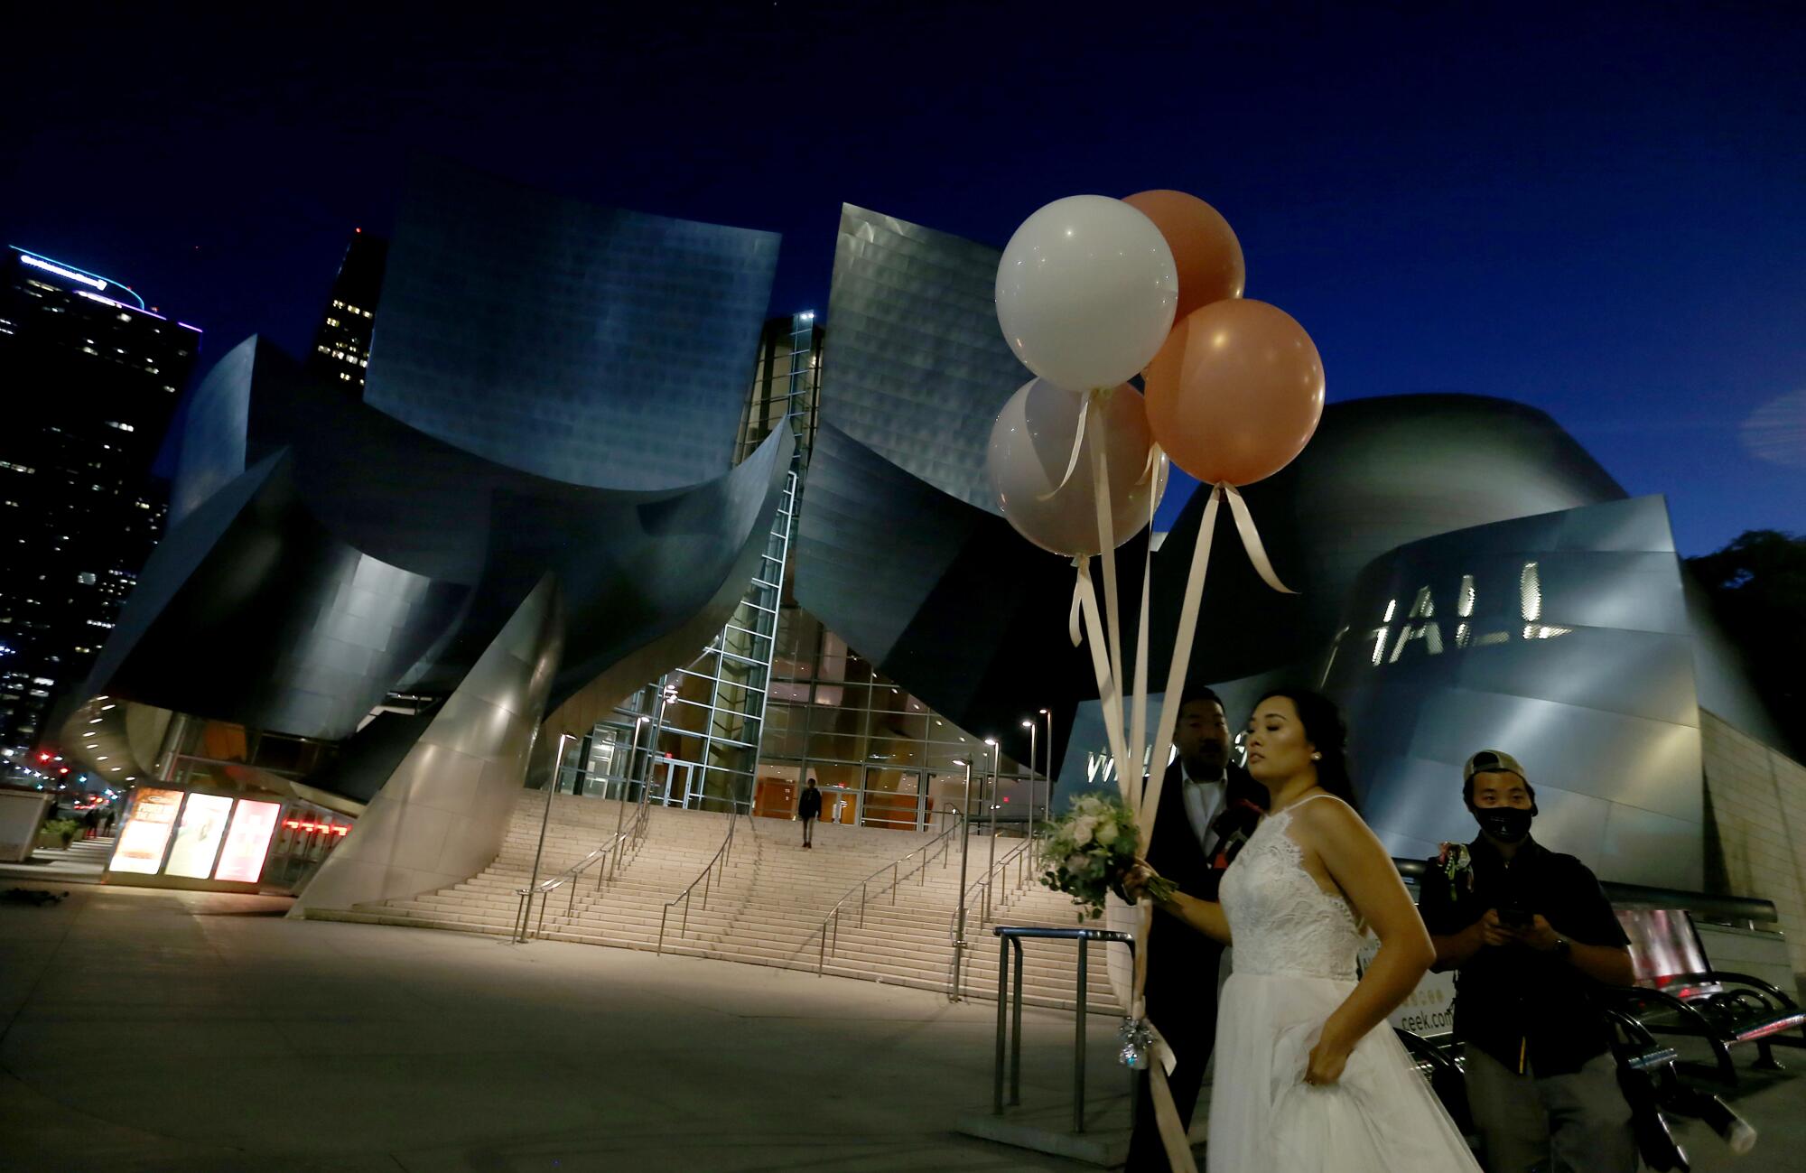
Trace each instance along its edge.
<path fill-rule="evenodd" d="M 1512 754 L 1461 772 L 1481 827 L 1432 859 L 1418 911 L 1432 969 L 1457 971 L 1456 1038 L 1492 1173 L 1634 1173 L 1600 985 L 1631 985 L 1629 938 L 1593 872 L 1530 836 L 1537 794 Z"/>

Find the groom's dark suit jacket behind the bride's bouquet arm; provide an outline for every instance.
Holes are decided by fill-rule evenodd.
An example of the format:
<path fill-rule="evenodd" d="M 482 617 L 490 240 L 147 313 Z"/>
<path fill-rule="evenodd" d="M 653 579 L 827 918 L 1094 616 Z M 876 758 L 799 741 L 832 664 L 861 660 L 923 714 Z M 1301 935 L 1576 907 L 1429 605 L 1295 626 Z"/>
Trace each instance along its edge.
<path fill-rule="evenodd" d="M 1239 765 L 1228 769 L 1228 796 L 1223 812 L 1210 823 L 1208 850 L 1197 843 L 1192 819 L 1185 812 L 1185 772 L 1178 762 L 1167 771 L 1159 789 L 1158 836 L 1147 845 L 1147 863 L 1187 895 L 1217 899 L 1224 868 L 1235 859 L 1261 823 L 1266 787 L 1248 778 Z M 1156 915 L 1154 944 L 1149 951 L 1147 1012 L 1172 1041 L 1176 1052 L 1185 1041 L 1208 1054 L 1217 1018 L 1217 964 L 1223 946 L 1168 915 Z"/>

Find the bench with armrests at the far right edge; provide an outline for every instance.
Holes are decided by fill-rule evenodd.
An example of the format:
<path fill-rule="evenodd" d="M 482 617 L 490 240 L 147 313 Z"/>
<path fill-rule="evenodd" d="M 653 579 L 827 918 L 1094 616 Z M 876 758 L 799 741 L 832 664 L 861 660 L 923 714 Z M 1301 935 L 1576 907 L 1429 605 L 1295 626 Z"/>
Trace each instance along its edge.
<path fill-rule="evenodd" d="M 1730 1048 L 1755 1045 L 1755 1067 L 1779 1070 L 1773 1045 L 1806 1047 L 1806 1011 L 1768 982 L 1712 969 L 1692 915 L 1676 908 L 1618 908 L 1631 938 L 1636 985 L 1611 991 L 1615 1009 L 1649 1030 L 1689 1034 L 1712 1047 L 1716 1077 L 1737 1086 Z M 1799 1030 L 1801 1038 L 1788 1038 Z"/>

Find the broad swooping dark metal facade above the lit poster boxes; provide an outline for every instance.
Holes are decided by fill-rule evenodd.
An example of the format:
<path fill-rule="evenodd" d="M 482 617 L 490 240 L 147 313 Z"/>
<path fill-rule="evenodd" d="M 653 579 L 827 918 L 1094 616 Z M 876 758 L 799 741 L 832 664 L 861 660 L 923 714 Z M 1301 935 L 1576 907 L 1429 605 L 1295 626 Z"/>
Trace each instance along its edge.
<path fill-rule="evenodd" d="M 390 689 L 457 688 L 547 572 L 571 617 L 554 704 L 618 664 L 674 668 L 694 648 L 672 633 L 719 628 L 744 590 L 793 448 L 773 433 L 699 485 L 614 493 L 426 437 L 258 339 L 208 386 L 188 435 L 229 431 L 209 408 L 242 417 L 258 462 L 172 527 L 88 695 L 325 740 Z M 195 496 L 231 473 L 217 453 L 199 467 Z"/>

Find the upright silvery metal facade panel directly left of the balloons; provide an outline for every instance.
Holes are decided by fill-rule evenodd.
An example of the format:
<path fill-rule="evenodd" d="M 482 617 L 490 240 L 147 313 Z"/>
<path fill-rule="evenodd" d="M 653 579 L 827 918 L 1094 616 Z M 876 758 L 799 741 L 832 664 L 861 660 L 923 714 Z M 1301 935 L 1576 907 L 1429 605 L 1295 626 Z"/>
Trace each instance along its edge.
<path fill-rule="evenodd" d="M 999 249 L 840 209 L 822 419 L 984 513 L 984 446 L 1029 370 L 997 328 Z"/>

